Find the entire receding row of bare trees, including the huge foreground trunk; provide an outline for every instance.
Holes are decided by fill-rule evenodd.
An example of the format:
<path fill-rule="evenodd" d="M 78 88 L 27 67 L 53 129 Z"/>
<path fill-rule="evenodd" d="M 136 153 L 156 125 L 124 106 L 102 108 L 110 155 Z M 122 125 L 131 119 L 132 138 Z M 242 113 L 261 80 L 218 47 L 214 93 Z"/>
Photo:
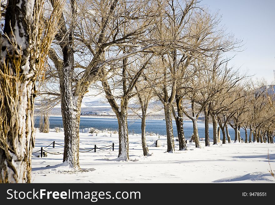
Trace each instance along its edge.
<path fill-rule="evenodd" d="M 187 149 L 183 115 L 192 120 L 201 147 L 201 113 L 206 146 L 209 116 L 214 144 L 218 125 L 225 143 L 227 124 L 235 129 L 235 141 L 243 128 L 254 140 L 262 142 L 267 134 L 272 142 L 272 97 L 228 67 L 226 52 L 242 42 L 197 0 L 8 0 L 1 6 L 0 182 L 30 182 L 37 94 L 43 103 L 61 104 L 63 162 L 80 169 L 81 103 L 91 86 L 105 94 L 118 118 L 118 160 L 129 159 L 128 104 L 134 100 L 141 109 L 144 155 L 150 155 L 145 128 L 154 98 L 163 104 L 168 152 L 175 150 L 173 117 L 179 149 Z"/>

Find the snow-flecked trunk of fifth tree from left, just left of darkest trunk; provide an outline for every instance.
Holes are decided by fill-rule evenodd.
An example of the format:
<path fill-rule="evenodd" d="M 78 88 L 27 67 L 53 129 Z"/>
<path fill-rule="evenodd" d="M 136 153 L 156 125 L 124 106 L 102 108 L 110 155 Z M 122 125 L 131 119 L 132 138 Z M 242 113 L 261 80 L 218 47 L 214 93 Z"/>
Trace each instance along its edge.
<path fill-rule="evenodd" d="M 171 109 L 172 108 L 169 103 L 164 103 L 164 114 L 165 114 L 166 134 L 167 134 L 167 152 L 175 152 Z"/>

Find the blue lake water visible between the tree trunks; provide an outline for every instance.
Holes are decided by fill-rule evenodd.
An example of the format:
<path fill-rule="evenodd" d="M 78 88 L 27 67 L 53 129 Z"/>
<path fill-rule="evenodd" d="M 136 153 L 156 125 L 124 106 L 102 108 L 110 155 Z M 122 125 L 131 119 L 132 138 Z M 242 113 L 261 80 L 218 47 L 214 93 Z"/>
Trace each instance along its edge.
<path fill-rule="evenodd" d="M 35 127 L 39 127 L 39 119 L 40 117 L 35 118 Z M 50 117 L 50 128 L 54 127 L 63 127 L 62 117 Z M 204 122 L 198 121 L 198 133 L 199 137 L 204 137 Z M 112 118 L 88 118 L 88 117 L 80 117 L 80 129 L 83 128 L 96 128 L 96 129 L 118 129 L 118 120 Z M 183 124 L 184 135 L 186 138 L 191 137 L 193 133 L 193 124 L 192 121 L 184 121 Z M 128 130 L 130 133 L 141 133 L 141 120 L 128 120 Z M 235 138 L 234 129 L 228 126 L 228 131 L 232 140 Z M 158 133 L 161 135 L 166 134 L 166 124 L 165 120 L 146 120 L 146 132 Z M 249 130 L 247 130 L 249 136 Z M 176 122 L 173 121 L 173 133 L 177 136 L 177 127 Z M 213 126 L 209 124 L 209 137 L 212 138 L 213 136 Z M 222 139 L 222 133 L 220 135 Z M 241 129 L 241 138 L 245 139 L 245 132 Z"/>

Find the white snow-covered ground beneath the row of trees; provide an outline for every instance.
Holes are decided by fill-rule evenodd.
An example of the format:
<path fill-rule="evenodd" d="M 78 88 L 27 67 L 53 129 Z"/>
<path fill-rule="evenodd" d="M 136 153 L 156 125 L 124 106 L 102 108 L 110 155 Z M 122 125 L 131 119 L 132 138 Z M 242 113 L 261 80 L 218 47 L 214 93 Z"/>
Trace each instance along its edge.
<path fill-rule="evenodd" d="M 63 136 L 63 132 L 37 132 L 33 152 L 53 141 L 63 145 Z M 147 136 L 148 145 L 156 139 L 155 135 Z M 98 133 L 98 136 L 80 133 L 80 148 L 92 149 L 94 144 L 100 148 L 115 143 L 115 150 L 79 153 L 82 172 L 69 172 L 68 167 L 61 164 L 62 154 L 38 158 L 40 152 L 37 152 L 32 156 L 32 180 L 33 183 L 275 183 L 269 173 L 270 166 L 275 173 L 275 144 L 219 143 L 198 149 L 189 143 L 187 151 L 167 153 L 166 137 L 160 139 L 162 146 L 149 147 L 152 156 L 144 157 L 141 136 L 129 135 L 130 161 L 125 162 L 112 161 L 118 155 L 117 134 L 110 137 L 109 133 Z M 204 145 L 204 141 L 201 143 Z M 175 149 L 178 149 L 177 141 Z M 63 153 L 60 145 L 44 150 Z"/>

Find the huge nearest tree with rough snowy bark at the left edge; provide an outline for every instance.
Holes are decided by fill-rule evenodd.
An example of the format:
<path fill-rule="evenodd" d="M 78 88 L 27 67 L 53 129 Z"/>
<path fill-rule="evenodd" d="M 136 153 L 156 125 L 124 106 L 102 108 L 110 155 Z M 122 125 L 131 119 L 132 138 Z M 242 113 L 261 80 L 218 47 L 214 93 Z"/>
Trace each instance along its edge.
<path fill-rule="evenodd" d="M 0 51 L 0 183 L 31 182 L 35 80 L 62 8 L 61 1 L 53 5 L 44 25 L 42 0 L 7 1 Z"/>

